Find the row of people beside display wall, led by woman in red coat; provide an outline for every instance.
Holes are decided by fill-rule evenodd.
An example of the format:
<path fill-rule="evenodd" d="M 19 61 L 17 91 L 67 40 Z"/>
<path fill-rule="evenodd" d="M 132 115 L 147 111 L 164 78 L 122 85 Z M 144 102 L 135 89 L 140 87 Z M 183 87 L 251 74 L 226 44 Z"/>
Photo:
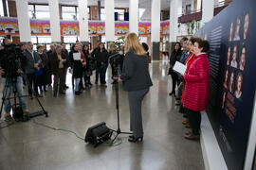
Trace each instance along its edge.
<path fill-rule="evenodd" d="M 173 89 L 169 95 L 174 95 L 176 106 L 186 118 L 182 122 L 185 127 L 192 128 L 186 132 L 185 138 L 189 140 L 200 139 L 201 113 L 208 107 L 210 64 L 208 41 L 192 37 L 184 37 L 180 42 L 174 43 L 174 50 L 170 57 L 169 75 L 173 79 Z M 176 61 L 186 66 L 184 74 L 174 71 Z M 176 90 L 177 87 L 177 90 Z"/>

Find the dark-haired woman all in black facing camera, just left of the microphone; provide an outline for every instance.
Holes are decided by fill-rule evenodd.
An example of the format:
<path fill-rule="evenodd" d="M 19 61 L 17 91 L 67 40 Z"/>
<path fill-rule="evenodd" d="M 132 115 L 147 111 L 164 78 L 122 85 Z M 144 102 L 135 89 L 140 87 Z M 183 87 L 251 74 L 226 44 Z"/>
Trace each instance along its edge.
<path fill-rule="evenodd" d="M 108 52 L 104 47 L 104 43 L 100 42 L 98 49 L 95 52 L 95 59 L 97 64 L 97 71 L 100 74 L 101 87 L 106 87 L 106 70 L 108 66 Z M 96 72 L 95 83 L 98 84 L 98 75 Z"/>

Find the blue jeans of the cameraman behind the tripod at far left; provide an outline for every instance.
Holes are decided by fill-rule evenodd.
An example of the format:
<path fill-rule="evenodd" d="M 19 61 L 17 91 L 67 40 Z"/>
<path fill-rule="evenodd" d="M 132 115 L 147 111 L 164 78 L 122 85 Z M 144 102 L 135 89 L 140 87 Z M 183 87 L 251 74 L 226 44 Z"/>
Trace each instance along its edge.
<path fill-rule="evenodd" d="M 11 93 L 11 88 L 12 88 L 12 85 L 13 85 L 13 82 L 15 78 L 12 78 L 12 79 L 9 79 L 9 82 L 8 82 L 8 85 L 7 85 L 7 95 L 6 95 L 6 98 L 9 98 L 10 96 L 10 93 Z M 2 78 L 2 86 L 3 86 L 3 93 L 4 93 L 4 89 L 5 89 L 5 86 L 6 86 L 6 81 L 7 79 L 6 78 Z M 22 77 L 21 76 L 17 76 L 17 82 L 16 82 L 16 92 L 17 92 L 17 96 L 19 97 L 19 104 L 20 106 L 26 110 L 27 109 L 27 106 L 25 104 L 25 99 L 24 97 L 22 97 L 24 95 L 23 93 L 23 80 L 22 80 Z M 7 99 L 5 101 L 5 111 L 6 112 L 9 112 L 11 110 L 11 104 L 10 104 L 10 101 L 9 99 Z"/>

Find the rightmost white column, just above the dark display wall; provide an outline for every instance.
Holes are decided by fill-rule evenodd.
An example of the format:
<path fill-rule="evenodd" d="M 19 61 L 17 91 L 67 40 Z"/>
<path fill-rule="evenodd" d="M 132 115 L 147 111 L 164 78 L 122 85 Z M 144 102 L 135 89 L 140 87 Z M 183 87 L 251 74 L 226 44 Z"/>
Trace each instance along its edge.
<path fill-rule="evenodd" d="M 203 0 L 201 27 L 205 26 L 214 15 L 214 0 Z"/>

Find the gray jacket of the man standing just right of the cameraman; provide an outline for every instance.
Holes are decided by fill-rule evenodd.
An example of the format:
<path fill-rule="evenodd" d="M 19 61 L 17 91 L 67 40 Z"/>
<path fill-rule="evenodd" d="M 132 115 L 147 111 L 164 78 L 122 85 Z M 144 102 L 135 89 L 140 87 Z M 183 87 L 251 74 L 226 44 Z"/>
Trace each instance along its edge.
<path fill-rule="evenodd" d="M 37 52 L 33 51 L 34 59 L 32 54 L 26 49 L 24 51 L 24 55 L 26 57 L 26 64 L 25 64 L 25 73 L 26 74 L 33 74 L 35 72 L 34 64 L 40 62 L 40 57 Z"/>

